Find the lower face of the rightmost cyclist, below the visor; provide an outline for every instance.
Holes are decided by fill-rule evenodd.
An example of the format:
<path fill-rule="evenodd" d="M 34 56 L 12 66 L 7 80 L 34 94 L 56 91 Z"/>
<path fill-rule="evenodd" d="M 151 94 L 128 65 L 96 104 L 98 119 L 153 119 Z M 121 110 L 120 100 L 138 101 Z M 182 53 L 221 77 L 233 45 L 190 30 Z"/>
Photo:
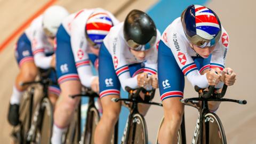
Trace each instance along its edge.
<path fill-rule="evenodd" d="M 190 46 L 192 47 L 192 49 L 196 51 L 196 53 L 198 53 L 202 58 L 205 58 L 205 59 L 209 57 L 209 55 L 212 53 L 212 51 L 215 48 L 215 45 L 205 46 L 204 48 L 201 48 L 193 44 L 190 44 Z"/>

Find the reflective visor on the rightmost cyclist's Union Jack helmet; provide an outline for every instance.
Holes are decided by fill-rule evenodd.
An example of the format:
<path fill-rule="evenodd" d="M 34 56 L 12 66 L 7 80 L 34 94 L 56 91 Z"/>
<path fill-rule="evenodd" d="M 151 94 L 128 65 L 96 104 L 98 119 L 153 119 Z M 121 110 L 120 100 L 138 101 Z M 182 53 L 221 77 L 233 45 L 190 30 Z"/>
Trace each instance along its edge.
<path fill-rule="evenodd" d="M 198 46 L 198 47 L 201 47 L 201 48 L 204 48 L 206 46 L 213 46 L 215 45 L 217 42 L 219 42 L 219 39 L 220 39 L 220 35 L 221 35 L 221 30 L 219 31 L 218 35 L 216 37 L 214 37 L 213 39 L 204 39 L 198 35 L 194 35 L 192 37 L 187 36 L 188 40 L 190 41 L 190 43 Z"/>

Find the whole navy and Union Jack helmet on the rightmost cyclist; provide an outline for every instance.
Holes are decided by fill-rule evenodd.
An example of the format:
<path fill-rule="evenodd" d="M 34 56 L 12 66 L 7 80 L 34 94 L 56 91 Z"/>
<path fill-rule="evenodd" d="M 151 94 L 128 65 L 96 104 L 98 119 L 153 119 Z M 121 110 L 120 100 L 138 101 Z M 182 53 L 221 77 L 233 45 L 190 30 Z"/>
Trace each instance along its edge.
<path fill-rule="evenodd" d="M 190 43 L 198 47 L 213 46 L 220 39 L 220 20 L 205 6 L 188 6 L 181 14 L 181 22 Z"/>

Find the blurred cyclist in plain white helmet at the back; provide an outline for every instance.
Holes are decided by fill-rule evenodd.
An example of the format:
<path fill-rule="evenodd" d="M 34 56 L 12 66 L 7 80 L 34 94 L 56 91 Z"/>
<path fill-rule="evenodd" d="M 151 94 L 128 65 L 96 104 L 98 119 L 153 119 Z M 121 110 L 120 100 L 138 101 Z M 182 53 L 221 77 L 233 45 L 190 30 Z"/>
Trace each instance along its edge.
<path fill-rule="evenodd" d="M 37 67 L 41 69 L 55 67 L 53 39 L 62 19 L 67 15 L 68 11 L 64 7 L 51 6 L 34 19 L 18 39 L 15 58 L 20 71 L 13 86 L 8 114 L 8 121 L 13 126 L 19 123 L 19 104 L 23 92 L 27 89 L 27 86 L 21 86 L 20 83 L 34 81 L 38 73 Z M 55 81 L 56 76 L 53 72 L 50 78 Z M 58 86 L 49 87 L 49 97 L 53 103 L 59 93 Z"/>

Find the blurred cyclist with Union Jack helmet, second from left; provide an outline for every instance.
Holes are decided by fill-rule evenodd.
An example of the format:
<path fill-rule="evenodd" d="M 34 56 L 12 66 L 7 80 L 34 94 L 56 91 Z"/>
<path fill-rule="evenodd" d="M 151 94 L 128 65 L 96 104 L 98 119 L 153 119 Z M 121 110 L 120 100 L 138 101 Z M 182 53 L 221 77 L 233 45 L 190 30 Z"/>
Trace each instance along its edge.
<path fill-rule="evenodd" d="M 110 12 L 83 9 L 63 20 L 57 33 L 57 75 L 61 96 L 54 111 L 52 143 L 61 143 L 81 93 L 81 84 L 99 92 L 98 76 L 93 76 L 90 61 L 98 65 L 97 55 L 103 38 L 119 21 Z"/>

